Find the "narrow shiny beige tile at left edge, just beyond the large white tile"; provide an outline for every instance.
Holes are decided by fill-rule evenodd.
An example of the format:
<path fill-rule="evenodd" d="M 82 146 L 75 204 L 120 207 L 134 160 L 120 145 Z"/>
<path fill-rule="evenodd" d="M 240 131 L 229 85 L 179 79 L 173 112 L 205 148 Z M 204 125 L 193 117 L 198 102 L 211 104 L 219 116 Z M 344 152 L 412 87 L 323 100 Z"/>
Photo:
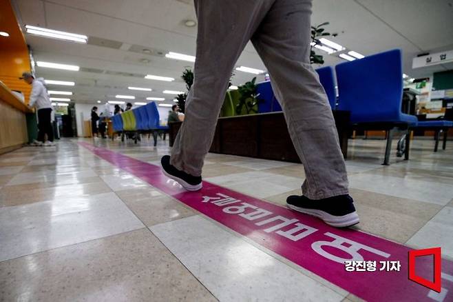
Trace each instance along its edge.
<path fill-rule="evenodd" d="M 27 203 L 61 199 L 65 197 L 82 197 L 112 191 L 109 186 L 103 182 L 58 185 L 51 188 L 27 188 L 27 190 L 17 190 L 17 188 L 11 187 L 14 186 L 10 185 L 0 189 L 0 207 L 24 205 Z"/>

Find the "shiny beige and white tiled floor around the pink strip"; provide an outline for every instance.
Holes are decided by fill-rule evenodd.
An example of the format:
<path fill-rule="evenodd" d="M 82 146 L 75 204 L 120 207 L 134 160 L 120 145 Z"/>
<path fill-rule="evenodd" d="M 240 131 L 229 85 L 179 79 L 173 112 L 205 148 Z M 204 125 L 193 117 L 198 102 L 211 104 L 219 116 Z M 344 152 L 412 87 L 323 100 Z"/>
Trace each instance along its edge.
<path fill-rule="evenodd" d="M 93 142 L 92 140 L 87 140 Z M 356 301 L 77 144 L 0 156 L 0 301 Z M 97 140 L 157 164 L 152 146 Z M 453 258 L 453 143 L 415 140 L 381 165 L 385 144 L 350 141 L 355 227 Z M 208 154 L 204 179 L 284 205 L 302 165 Z M 303 286 L 301 286 L 303 285 Z"/>

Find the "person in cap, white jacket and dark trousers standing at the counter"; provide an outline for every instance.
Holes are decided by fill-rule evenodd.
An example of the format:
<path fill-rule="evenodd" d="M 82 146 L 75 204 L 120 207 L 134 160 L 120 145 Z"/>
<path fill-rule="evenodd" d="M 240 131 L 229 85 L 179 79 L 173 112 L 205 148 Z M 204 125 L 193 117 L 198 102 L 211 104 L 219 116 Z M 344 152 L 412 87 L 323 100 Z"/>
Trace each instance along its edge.
<path fill-rule="evenodd" d="M 38 112 L 38 139 L 32 145 L 54 145 L 54 130 L 52 129 L 52 103 L 49 99 L 47 88 L 45 88 L 44 79 L 34 79 L 30 72 L 23 72 L 22 79 L 26 83 L 32 85 L 30 94 L 30 102 L 28 105 L 31 108 L 36 108 Z M 48 141 L 45 142 L 45 134 L 48 134 Z"/>

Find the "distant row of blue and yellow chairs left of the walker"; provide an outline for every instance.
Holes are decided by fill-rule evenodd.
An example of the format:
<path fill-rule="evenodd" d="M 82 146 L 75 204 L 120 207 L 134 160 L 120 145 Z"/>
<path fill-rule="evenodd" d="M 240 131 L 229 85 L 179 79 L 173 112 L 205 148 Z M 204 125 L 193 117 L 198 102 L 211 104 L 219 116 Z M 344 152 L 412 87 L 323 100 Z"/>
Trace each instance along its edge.
<path fill-rule="evenodd" d="M 127 132 L 134 132 L 134 140 L 137 142 L 141 133 L 152 133 L 154 145 L 157 145 L 158 134 L 168 132 L 168 126 L 160 125 L 159 110 L 155 102 L 141 105 L 112 118 L 114 132 L 120 133 L 122 140 Z"/>

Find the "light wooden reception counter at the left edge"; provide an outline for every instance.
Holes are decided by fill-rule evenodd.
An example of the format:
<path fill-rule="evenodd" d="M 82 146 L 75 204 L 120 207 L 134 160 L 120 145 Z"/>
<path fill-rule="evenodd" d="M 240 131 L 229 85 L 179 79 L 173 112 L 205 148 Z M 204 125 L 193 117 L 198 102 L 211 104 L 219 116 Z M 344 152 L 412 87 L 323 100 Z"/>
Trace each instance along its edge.
<path fill-rule="evenodd" d="M 0 154 L 28 142 L 26 114 L 33 111 L 0 82 Z"/>

